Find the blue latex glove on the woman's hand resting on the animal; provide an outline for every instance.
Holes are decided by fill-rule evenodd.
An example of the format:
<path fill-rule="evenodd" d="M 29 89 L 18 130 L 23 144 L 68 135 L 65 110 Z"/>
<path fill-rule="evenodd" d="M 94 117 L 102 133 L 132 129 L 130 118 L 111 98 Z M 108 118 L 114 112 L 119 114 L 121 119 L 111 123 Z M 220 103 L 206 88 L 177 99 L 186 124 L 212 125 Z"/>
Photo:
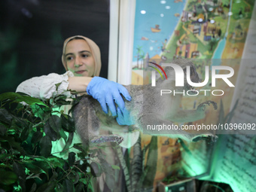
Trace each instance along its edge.
<path fill-rule="evenodd" d="M 108 108 L 113 116 L 117 116 L 117 109 L 114 102 L 123 112 L 125 105 L 123 102 L 122 94 L 126 100 L 130 101 L 132 97 L 128 91 L 121 84 L 117 84 L 114 81 L 109 81 L 105 78 L 94 77 L 87 86 L 87 93 L 97 99 L 102 110 L 108 114 Z"/>

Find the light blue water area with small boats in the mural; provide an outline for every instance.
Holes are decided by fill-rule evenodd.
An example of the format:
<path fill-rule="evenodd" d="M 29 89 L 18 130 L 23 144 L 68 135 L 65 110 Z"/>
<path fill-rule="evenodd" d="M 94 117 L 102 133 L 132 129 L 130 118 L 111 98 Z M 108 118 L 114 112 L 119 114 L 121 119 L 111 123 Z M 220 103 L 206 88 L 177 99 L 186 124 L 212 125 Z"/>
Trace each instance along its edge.
<path fill-rule="evenodd" d="M 181 17 L 186 1 L 174 0 L 137 0 L 134 26 L 133 62 L 137 60 L 137 48 L 150 57 L 160 54 L 165 39 L 167 41 L 174 32 Z M 176 17 L 180 14 L 180 17 Z M 159 25 L 160 32 L 152 32 Z M 154 30 L 154 29 L 153 29 Z M 157 29 L 155 30 L 157 31 Z M 159 30 L 158 30 L 159 31 Z"/>

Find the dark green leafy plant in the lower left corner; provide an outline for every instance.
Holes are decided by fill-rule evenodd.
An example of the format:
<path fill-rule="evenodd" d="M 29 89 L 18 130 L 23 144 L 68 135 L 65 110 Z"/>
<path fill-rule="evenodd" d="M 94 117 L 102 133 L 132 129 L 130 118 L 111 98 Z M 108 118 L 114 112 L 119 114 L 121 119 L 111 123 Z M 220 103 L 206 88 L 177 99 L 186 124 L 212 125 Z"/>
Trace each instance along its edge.
<path fill-rule="evenodd" d="M 23 93 L 0 95 L 1 191 L 92 190 L 87 148 L 81 144 L 72 147 L 80 151 L 81 160 L 68 151 L 75 132 L 74 120 L 55 111 L 69 104 L 65 96 L 41 101 Z M 52 142 L 58 139 L 66 141 L 59 152 L 68 154 L 67 160 L 51 154 Z"/>

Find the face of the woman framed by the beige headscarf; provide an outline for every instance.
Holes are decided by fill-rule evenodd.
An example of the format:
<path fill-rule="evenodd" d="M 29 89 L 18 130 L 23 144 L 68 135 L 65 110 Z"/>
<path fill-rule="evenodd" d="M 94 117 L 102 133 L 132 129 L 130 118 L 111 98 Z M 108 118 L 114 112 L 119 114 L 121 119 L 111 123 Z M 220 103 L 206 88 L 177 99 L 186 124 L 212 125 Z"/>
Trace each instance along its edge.
<path fill-rule="evenodd" d="M 73 39 L 66 45 L 64 59 L 75 76 L 93 77 L 95 64 L 87 41 Z"/>

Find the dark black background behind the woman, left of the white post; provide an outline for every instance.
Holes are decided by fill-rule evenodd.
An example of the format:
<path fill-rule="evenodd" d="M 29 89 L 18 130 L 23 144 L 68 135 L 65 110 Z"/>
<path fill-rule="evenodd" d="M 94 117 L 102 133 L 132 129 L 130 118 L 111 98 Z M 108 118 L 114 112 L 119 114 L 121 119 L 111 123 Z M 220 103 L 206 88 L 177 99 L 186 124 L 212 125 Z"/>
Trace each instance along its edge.
<path fill-rule="evenodd" d="M 0 93 L 24 80 L 62 74 L 62 44 L 73 35 L 93 39 L 108 75 L 109 0 L 0 1 Z"/>

